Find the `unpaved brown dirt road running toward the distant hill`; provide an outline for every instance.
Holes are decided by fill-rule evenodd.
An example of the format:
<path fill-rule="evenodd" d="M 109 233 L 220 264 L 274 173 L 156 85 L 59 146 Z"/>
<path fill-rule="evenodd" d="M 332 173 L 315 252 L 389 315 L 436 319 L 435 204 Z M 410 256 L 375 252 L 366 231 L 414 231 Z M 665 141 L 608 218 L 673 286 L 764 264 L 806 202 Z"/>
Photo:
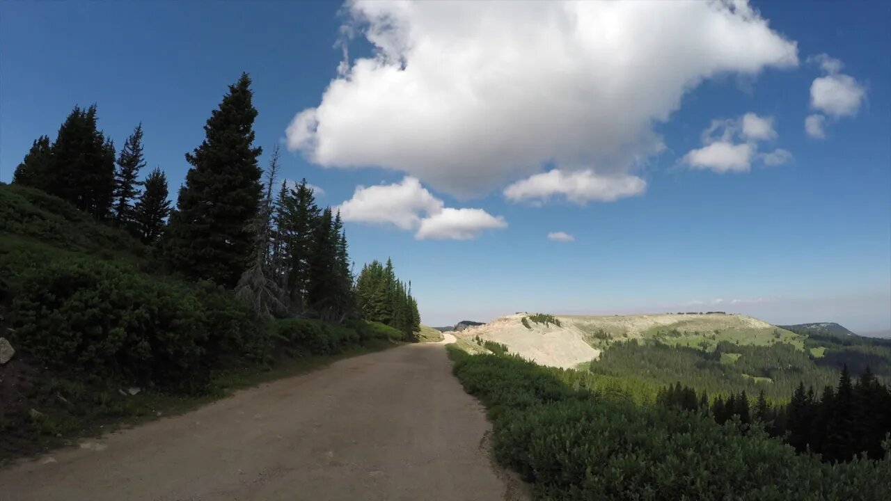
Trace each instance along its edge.
<path fill-rule="evenodd" d="M 519 498 L 441 344 L 341 360 L 13 465 L 0 501 Z"/>

